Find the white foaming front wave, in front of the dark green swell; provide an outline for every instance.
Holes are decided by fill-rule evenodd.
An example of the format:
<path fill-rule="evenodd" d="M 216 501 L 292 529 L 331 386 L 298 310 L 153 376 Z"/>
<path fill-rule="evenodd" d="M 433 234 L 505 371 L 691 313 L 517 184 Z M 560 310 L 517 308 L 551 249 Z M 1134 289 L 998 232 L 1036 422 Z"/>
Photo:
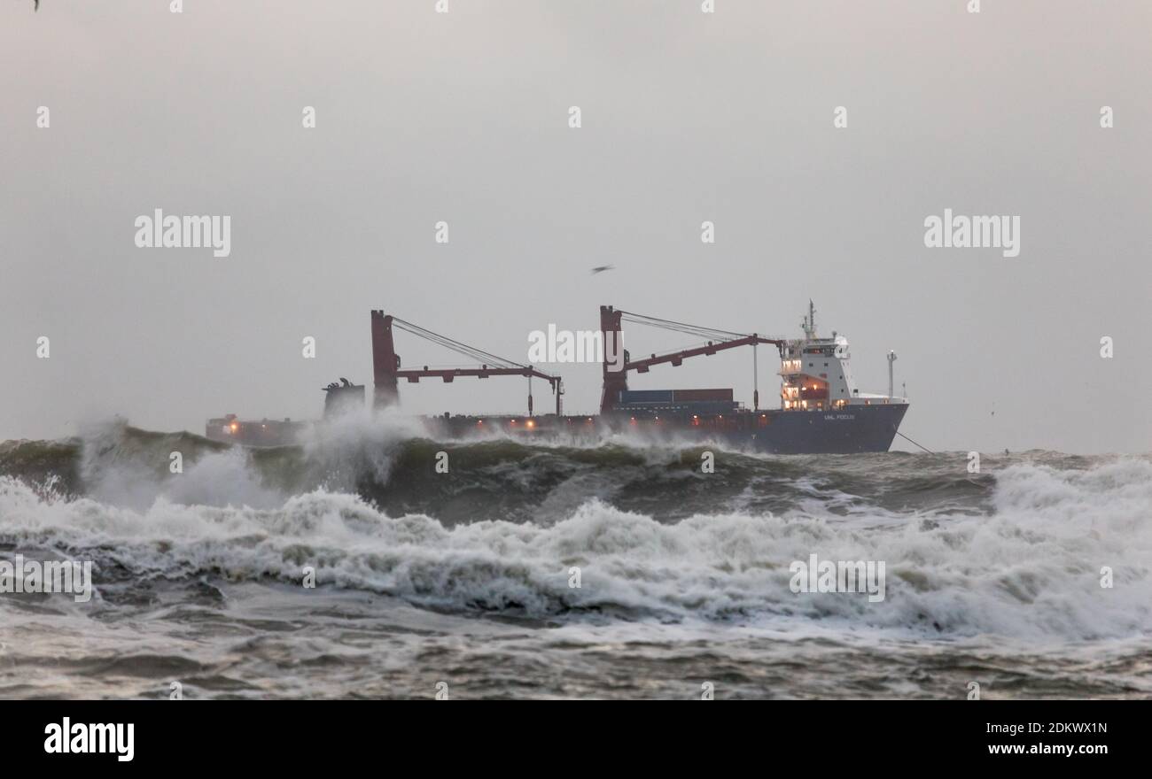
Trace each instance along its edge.
<path fill-rule="evenodd" d="M 83 550 L 131 575 L 274 578 L 366 589 L 415 605 L 537 619 L 612 616 L 817 623 L 930 635 L 1086 640 L 1152 628 L 1152 464 L 1085 471 L 1020 465 L 995 474 L 991 515 L 697 513 L 658 521 L 585 501 L 551 524 L 447 526 L 389 517 L 363 498 L 318 489 L 275 509 L 156 501 L 136 511 L 91 498 L 45 501 L 0 480 L 2 537 Z M 882 513 L 882 512 L 881 512 Z M 788 566 L 810 553 L 884 560 L 887 597 L 795 594 Z M 1100 586 L 1100 570 L 1115 586 Z M 581 586 L 570 586 L 571 568 Z M 99 580 L 98 580 L 99 586 Z"/>

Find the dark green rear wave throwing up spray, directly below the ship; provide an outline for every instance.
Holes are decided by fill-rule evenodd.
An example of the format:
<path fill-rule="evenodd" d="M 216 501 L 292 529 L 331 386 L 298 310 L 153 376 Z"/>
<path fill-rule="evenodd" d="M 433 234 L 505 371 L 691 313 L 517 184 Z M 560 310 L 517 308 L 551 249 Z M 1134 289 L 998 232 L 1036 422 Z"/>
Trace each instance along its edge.
<path fill-rule="evenodd" d="M 147 509 L 158 498 L 272 509 L 318 489 L 355 494 L 385 512 L 429 513 L 446 525 L 483 519 L 558 521 L 589 498 L 655 517 L 718 510 L 838 513 L 909 507 L 983 511 L 993 480 L 950 455 L 773 457 L 698 441 L 638 445 L 627 437 L 539 443 L 492 436 L 431 441 L 402 417 L 354 415 L 318 426 L 298 446 L 241 449 L 191 433 L 109 422 L 54 442 L 0 443 L 0 474 L 41 491 Z M 715 472 L 700 469 L 705 449 Z M 174 452 L 182 469 L 172 473 Z M 448 456 L 447 473 L 435 469 Z M 1040 459 L 1044 459 L 1040 455 Z M 1079 458 L 1055 456 L 1071 467 Z"/>

